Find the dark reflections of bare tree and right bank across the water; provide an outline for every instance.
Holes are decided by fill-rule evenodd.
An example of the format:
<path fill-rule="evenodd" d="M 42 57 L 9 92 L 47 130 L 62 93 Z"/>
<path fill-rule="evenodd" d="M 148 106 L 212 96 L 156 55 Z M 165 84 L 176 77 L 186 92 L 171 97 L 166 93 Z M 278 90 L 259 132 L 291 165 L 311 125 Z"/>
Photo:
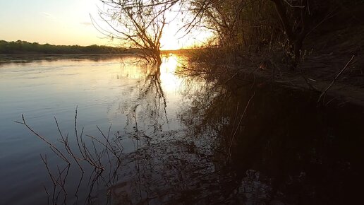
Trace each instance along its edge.
<path fill-rule="evenodd" d="M 54 190 L 64 198 L 56 194 L 50 204 L 348 204 L 360 198 L 362 107 L 317 107 L 318 96 L 302 90 L 185 76 L 178 126 L 171 128 L 161 78 L 159 67 L 148 66 L 138 99 L 121 109 L 126 127 L 100 130 L 100 138 L 85 143 L 88 150 L 81 143 L 77 155 L 91 160 L 82 160 L 91 165 L 89 174 L 70 176 L 68 165 L 53 170 Z M 66 182 L 71 192 L 63 190 Z"/>

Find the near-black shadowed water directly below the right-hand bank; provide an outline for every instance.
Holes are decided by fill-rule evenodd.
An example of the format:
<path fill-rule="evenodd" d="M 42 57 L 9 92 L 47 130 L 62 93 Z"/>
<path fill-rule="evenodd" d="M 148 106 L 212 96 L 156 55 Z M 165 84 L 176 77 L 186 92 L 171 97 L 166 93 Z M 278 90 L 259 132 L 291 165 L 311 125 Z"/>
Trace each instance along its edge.
<path fill-rule="evenodd" d="M 229 170 L 229 183 L 219 181 L 220 194 L 228 192 L 224 202 L 350 204 L 361 199 L 363 107 L 317 107 L 314 93 L 268 84 L 232 82 L 190 95 L 196 98 L 181 119 L 191 136 L 213 139 L 215 153 L 223 153 L 218 161 Z"/>

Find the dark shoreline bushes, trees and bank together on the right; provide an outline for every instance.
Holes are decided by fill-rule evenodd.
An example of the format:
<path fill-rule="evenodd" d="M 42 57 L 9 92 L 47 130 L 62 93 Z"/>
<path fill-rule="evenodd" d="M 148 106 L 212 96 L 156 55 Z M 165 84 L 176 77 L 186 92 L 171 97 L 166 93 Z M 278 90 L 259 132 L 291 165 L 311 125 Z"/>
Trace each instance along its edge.
<path fill-rule="evenodd" d="M 208 8 L 211 13 L 206 18 L 217 31 L 217 45 L 191 51 L 193 75 L 210 74 L 221 83 L 233 78 L 243 83 L 281 83 L 323 96 L 330 93 L 323 104 L 335 98 L 364 106 L 363 1 L 332 0 L 315 4 L 310 11 L 307 5 L 293 8 L 279 0 L 247 1 L 246 10 L 236 11 L 234 2 L 240 1 L 231 2 L 223 11 L 218 5 Z M 285 14 L 279 14 L 279 5 Z M 294 50 L 296 40 L 287 30 L 297 33 L 291 34 L 293 38 L 305 33 L 298 42 L 300 49 Z"/>

